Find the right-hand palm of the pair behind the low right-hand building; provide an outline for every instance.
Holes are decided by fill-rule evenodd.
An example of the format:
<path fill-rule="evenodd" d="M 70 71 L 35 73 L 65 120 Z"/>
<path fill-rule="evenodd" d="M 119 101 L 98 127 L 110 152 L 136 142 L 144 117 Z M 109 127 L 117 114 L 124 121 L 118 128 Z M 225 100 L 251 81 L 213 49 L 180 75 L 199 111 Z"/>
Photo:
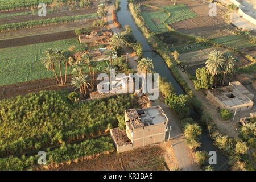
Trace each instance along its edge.
<path fill-rule="evenodd" d="M 222 73 L 223 73 L 223 80 L 222 85 L 225 84 L 225 78 L 226 74 L 233 73 L 236 69 L 236 59 L 234 56 L 232 56 L 229 52 L 225 52 L 223 54 L 223 67 L 222 67 Z"/>

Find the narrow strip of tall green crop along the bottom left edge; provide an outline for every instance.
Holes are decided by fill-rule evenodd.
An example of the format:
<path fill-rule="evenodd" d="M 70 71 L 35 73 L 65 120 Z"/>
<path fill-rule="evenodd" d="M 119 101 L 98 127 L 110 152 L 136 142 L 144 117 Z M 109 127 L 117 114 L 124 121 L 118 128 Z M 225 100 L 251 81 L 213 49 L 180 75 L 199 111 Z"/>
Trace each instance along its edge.
<path fill-rule="evenodd" d="M 93 158 L 100 154 L 108 154 L 114 151 L 114 145 L 110 137 L 101 137 L 97 139 L 88 139 L 79 144 L 61 144 L 60 148 L 46 153 L 46 168 L 57 167 L 64 162 L 72 162 L 78 159 Z M 17 171 L 36 169 L 38 165 L 39 155 L 34 155 L 26 158 L 23 155 L 21 158 L 10 156 L 9 158 L 0 159 L 1 171 Z M 42 166 L 41 166 L 42 167 Z"/>

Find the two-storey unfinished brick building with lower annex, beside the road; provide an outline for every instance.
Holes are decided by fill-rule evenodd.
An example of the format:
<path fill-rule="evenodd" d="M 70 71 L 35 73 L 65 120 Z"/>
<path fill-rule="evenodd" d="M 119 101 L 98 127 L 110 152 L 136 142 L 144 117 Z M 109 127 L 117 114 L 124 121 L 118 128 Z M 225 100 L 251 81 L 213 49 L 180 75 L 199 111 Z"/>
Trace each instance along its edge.
<path fill-rule="evenodd" d="M 160 106 L 126 110 L 125 123 L 126 132 L 110 130 L 118 152 L 163 142 L 168 130 L 168 118 Z"/>

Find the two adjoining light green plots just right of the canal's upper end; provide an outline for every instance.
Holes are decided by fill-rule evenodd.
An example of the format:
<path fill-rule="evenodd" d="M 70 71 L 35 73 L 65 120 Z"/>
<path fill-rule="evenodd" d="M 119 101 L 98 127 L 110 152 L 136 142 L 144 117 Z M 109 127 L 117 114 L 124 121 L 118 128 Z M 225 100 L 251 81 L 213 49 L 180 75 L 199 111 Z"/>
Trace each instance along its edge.
<path fill-rule="evenodd" d="M 187 5 L 174 5 L 174 6 L 164 6 L 164 10 L 171 13 L 168 18 L 168 14 L 165 11 L 153 11 L 153 12 L 143 12 L 142 16 L 147 23 L 147 26 L 153 32 L 167 31 L 168 29 L 164 26 L 164 21 L 167 24 L 172 24 L 179 22 L 181 20 L 195 18 L 197 14 L 192 10 L 188 9 Z"/>

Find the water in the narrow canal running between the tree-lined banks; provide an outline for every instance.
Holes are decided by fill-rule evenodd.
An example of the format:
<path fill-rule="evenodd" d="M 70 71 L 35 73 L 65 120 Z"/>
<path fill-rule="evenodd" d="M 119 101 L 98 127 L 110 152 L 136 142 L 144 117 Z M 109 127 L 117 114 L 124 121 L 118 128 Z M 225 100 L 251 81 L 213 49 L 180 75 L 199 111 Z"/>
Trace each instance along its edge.
<path fill-rule="evenodd" d="M 127 0 L 121 0 L 121 3 L 119 5 L 120 10 L 117 13 L 119 23 L 122 24 L 123 27 L 125 27 L 125 25 L 129 25 L 133 29 L 133 34 L 135 38 L 142 43 L 144 52 L 143 56 L 148 57 L 154 61 L 155 72 L 159 73 L 159 75 L 162 77 L 166 77 L 167 80 L 171 82 L 177 94 L 185 94 L 179 83 L 175 80 L 174 76 L 172 75 L 170 69 L 167 67 L 162 57 L 157 52 L 152 50 L 152 47 L 144 38 L 142 32 L 135 25 L 130 11 L 128 10 L 127 4 Z M 216 151 L 217 153 L 217 164 L 212 165 L 212 167 L 217 170 L 228 170 L 228 158 L 222 155 L 220 151 L 218 151 L 217 147 L 213 145 L 213 142 L 205 129 L 203 130 L 200 141 L 202 143 L 200 150 L 204 150 L 207 152 Z"/>

